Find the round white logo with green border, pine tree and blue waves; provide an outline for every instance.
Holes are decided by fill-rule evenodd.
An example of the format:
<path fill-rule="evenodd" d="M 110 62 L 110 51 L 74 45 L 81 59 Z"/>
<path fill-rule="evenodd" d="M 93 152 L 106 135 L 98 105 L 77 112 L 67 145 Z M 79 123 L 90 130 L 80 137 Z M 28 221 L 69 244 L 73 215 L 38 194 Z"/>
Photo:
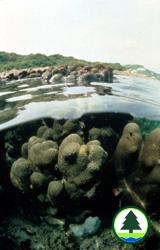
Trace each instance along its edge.
<path fill-rule="evenodd" d="M 144 240 L 149 228 L 150 221 L 147 214 L 135 206 L 121 208 L 112 220 L 115 236 L 127 244 L 136 244 Z"/>

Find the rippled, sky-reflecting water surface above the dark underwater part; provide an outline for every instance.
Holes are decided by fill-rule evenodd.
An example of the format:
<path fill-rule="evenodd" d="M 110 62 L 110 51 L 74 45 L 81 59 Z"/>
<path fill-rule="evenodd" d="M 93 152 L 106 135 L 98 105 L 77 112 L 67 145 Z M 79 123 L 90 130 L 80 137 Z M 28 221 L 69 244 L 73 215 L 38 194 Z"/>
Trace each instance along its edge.
<path fill-rule="evenodd" d="M 85 113 L 120 112 L 160 120 L 160 81 L 116 76 L 113 84 L 43 85 L 41 79 L 0 86 L 0 129 L 42 117 L 79 118 Z"/>

